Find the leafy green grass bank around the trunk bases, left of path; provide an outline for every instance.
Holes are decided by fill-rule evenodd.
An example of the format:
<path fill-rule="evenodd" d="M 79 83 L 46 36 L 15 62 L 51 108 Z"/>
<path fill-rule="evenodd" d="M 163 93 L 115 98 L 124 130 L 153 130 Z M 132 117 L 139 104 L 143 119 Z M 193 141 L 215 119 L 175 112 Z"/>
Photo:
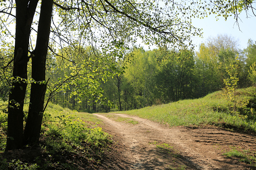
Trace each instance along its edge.
<path fill-rule="evenodd" d="M 112 143 L 108 133 L 97 126 L 100 123 L 92 114 L 50 103 L 43 117 L 39 145 L 4 155 L 7 114 L 0 111 L 0 169 L 97 168 Z"/>

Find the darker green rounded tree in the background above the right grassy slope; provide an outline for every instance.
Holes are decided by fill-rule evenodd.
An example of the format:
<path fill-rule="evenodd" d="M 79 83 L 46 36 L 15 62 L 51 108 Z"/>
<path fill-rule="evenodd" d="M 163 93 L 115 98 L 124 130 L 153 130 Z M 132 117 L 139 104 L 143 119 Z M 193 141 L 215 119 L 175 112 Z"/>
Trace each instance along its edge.
<path fill-rule="evenodd" d="M 192 98 L 194 54 L 183 49 L 168 51 L 156 74 L 156 86 L 164 103 Z"/>

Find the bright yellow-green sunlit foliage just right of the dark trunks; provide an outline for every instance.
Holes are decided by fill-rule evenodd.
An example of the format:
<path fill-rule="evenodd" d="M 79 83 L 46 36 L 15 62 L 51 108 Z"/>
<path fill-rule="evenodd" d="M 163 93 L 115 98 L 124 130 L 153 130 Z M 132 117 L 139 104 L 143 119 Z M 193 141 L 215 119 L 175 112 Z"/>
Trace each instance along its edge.
<path fill-rule="evenodd" d="M 58 56 L 49 61 L 48 100 L 77 110 L 84 109 L 87 103 L 110 104 L 103 98 L 101 84 L 122 70 L 115 69 L 113 57 L 106 57 L 92 47 L 74 46 L 62 50 L 60 53 L 67 61 Z M 87 109 L 84 110 L 89 111 Z"/>

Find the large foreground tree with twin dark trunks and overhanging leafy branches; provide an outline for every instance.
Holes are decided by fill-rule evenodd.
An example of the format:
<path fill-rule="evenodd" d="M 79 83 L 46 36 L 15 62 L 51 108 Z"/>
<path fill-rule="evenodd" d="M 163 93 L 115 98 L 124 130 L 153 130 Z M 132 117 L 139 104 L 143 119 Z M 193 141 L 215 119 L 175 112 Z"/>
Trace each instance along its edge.
<path fill-rule="evenodd" d="M 190 36 L 200 35 L 200 30 L 191 25 L 185 11 L 186 7 L 175 3 L 166 3 L 166 7 L 161 8 L 154 2 L 132 0 L 1 1 L 1 29 L 10 33 L 10 38 L 14 38 L 10 18 L 16 23 L 6 150 L 33 145 L 39 139 L 47 87 L 48 50 L 58 55 L 54 47 L 79 42 L 79 45 L 99 49 L 101 54 L 112 56 L 115 61 L 122 58 L 126 47 L 136 42 L 137 37 L 147 44 L 163 47 L 169 43 L 175 46 L 185 42 L 190 44 Z M 181 18 L 182 14 L 184 18 Z M 32 36 L 36 36 L 35 43 Z M 28 79 L 30 59 L 31 80 Z M 30 105 L 23 132 L 23 106 L 28 83 L 31 83 Z"/>

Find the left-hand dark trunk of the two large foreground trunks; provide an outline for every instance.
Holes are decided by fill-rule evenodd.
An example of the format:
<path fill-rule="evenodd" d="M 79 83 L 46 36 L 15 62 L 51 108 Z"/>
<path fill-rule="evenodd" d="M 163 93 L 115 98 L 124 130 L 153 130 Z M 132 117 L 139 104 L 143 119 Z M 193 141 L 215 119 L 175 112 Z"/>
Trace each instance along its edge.
<path fill-rule="evenodd" d="M 38 0 L 16 1 L 16 34 L 14 50 L 13 83 L 8 103 L 8 130 L 6 150 L 23 145 L 23 106 L 27 88 L 27 63 L 31 24 Z"/>

